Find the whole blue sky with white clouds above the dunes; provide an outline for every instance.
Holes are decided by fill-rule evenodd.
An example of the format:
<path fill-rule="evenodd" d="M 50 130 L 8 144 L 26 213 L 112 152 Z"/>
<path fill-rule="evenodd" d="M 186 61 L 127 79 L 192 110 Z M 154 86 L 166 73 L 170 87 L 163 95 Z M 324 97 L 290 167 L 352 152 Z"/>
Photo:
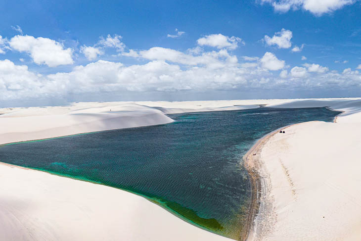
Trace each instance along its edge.
<path fill-rule="evenodd" d="M 360 0 L 0 2 L 0 106 L 361 96 Z"/>

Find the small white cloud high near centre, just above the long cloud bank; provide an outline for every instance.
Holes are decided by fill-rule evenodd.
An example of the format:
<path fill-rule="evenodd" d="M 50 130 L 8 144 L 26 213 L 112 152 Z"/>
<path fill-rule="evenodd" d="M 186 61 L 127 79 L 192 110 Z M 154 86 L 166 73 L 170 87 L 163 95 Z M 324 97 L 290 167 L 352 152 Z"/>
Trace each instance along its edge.
<path fill-rule="evenodd" d="M 244 45 L 244 41 L 238 37 L 228 37 L 222 34 L 211 34 L 197 40 L 200 46 L 210 46 L 215 48 L 229 48 L 235 49 L 238 43 Z"/>

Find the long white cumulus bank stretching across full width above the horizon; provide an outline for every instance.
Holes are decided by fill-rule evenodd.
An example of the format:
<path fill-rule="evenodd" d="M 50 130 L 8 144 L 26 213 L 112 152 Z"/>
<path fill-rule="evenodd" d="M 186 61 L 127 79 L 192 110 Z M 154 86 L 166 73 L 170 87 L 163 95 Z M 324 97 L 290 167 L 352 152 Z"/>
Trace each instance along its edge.
<path fill-rule="evenodd" d="M 84 46 L 83 46 L 84 47 Z M 255 89 L 314 91 L 319 88 L 355 90 L 361 88 L 361 74 L 351 68 L 329 71 L 318 64 L 288 68 L 273 53 L 263 56 L 237 56 L 226 48 L 213 51 L 179 51 L 154 47 L 129 50 L 122 55 L 135 57 L 141 64 L 98 60 L 75 66 L 71 71 L 41 75 L 26 65 L 0 60 L 0 100 L 53 98 L 98 94 L 171 92 L 172 96 L 190 92 L 251 92 Z M 245 62 L 243 62 L 245 61 Z M 361 66 L 360 66 L 361 68 Z M 281 70 L 279 74 L 270 70 Z M 163 95 L 163 94 L 162 94 Z M 84 99 L 83 99 L 84 100 Z M 136 99 L 135 99 L 136 100 Z"/>

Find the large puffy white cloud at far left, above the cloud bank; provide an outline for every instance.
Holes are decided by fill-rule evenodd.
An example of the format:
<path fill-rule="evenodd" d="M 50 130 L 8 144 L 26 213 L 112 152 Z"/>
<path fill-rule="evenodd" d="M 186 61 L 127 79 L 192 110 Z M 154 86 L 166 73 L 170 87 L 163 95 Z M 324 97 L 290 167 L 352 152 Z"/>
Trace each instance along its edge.
<path fill-rule="evenodd" d="M 72 64 L 72 49 L 48 38 L 16 35 L 9 41 L 11 49 L 28 53 L 35 63 L 49 67 Z"/>

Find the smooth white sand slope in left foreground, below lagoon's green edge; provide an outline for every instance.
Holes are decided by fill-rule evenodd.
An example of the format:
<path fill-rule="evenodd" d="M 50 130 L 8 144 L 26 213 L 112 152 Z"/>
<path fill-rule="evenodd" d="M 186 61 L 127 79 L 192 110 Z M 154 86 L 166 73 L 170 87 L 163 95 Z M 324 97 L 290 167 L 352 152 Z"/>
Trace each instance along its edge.
<path fill-rule="evenodd" d="M 118 189 L 5 164 L 0 182 L 1 241 L 228 240 Z"/>

